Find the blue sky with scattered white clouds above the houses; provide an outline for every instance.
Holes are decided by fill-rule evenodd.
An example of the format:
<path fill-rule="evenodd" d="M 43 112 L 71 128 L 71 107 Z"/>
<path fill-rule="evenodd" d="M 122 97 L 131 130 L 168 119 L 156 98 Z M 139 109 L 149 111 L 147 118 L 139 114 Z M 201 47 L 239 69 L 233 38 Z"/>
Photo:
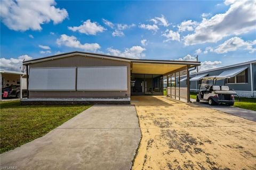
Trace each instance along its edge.
<path fill-rule="evenodd" d="M 71 51 L 198 60 L 256 59 L 256 1 L 1 1 L 0 67 Z"/>

